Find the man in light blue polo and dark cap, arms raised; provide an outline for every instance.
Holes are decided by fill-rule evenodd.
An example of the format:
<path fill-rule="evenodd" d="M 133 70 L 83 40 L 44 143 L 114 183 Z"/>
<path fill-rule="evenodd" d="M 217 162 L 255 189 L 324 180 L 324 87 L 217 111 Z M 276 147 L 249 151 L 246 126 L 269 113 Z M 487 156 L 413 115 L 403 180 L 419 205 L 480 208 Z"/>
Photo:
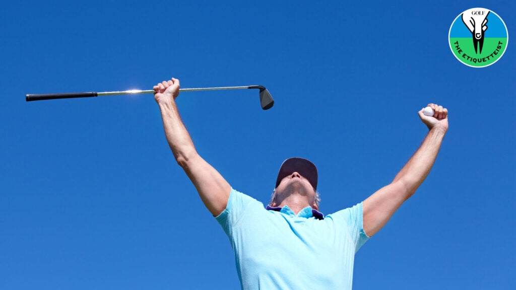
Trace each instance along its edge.
<path fill-rule="evenodd" d="M 425 180 L 448 129 L 447 110 L 429 104 L 419 116 L 429 132 L 396 175 L 362 203 L 324 217 L 318 212 L 317 169 L 289 158 L 267 208 L 234 190 L 199 156 L 179 116 L 179 80 L 154 86 L 165 135 L 178 164 L 230 238 L 243 289 L 351 289 L 354 254 Z"/>

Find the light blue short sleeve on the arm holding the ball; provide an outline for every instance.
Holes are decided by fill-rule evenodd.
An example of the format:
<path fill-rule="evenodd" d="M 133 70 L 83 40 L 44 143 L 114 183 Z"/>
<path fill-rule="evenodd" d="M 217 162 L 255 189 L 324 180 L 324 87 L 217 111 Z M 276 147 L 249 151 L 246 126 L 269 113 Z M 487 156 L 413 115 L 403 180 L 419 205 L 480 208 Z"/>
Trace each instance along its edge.
<path fill-rule="evenodd" d="M 349 236 L 351 240 L 355 244 L 355 252 L 358 252 L 360 247 L 365 244 L 365 242 L 369 239 L 369 237 L 364 232 L 363 227 L 363 212 L 362 212 L 362 203 L 358 203 L 353 207 L 348 207 L 342 211 L 338 211 L 332 216 L 340 217 L 344 221 Z"/>

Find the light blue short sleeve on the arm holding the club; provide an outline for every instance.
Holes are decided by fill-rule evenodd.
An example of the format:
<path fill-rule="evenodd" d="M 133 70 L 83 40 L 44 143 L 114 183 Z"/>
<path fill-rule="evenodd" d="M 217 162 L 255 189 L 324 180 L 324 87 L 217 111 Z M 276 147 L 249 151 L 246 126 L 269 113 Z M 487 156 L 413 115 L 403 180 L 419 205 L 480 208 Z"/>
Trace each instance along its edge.
<path fill-rule="evenodd" d="M 228 204 L 225 210 L 216 216 L 215 219 L 224 229 L 224 232 L 231 237 L 232 228 L 238 223 L 242 216 L 246 213 L 246 208 L 253 203 L 260 203 L 250 196 L 243 194 L 233 188 L 229 195 Z M 260 203 L 263 208 L 263 204 Z"/>

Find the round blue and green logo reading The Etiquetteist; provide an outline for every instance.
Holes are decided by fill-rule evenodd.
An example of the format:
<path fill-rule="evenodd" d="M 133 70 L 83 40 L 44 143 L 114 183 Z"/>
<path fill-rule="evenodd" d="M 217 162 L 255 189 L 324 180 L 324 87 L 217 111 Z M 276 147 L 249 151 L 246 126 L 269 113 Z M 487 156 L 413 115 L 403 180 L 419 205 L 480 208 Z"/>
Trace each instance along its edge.
<path fill-rule="evenodd" d="M 450 26 L 451 52 L 464 65 L 491 66 L 504 55 L 509 35 L 498 14 L 486 8 L 467 9 Z"/>

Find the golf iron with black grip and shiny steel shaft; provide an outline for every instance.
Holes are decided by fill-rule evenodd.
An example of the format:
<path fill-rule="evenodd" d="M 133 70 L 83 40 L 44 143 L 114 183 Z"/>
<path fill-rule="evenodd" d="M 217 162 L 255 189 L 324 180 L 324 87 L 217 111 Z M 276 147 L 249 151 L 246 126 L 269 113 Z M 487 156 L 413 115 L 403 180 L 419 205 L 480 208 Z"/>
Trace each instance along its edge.
<path fill-rule="evenodd" d="M 192 91 L 212 91 L 212 90 L 238 90 L 238 89 L 260 89 L 260 104 L 262 109 L 267 110 L 274 105 L 274 100 L 269 91 L 264 86 L 243 86 L 243 87 L 218 87 L 218 88 L 192 88 L 179 89 L 180 92 Z M 82 93 L 45 93 L 45 94 L 26 94 L 25 101 L 40 101 L 53 99 L 70 99 L 70 98 L 86 98 L 89 96 L 102 95 L 118 95 L 118 94 L 139 94 L 139 93 L 154 93 L 154 90 L 128 90 L 116 92 L 82 92 Z"/>

